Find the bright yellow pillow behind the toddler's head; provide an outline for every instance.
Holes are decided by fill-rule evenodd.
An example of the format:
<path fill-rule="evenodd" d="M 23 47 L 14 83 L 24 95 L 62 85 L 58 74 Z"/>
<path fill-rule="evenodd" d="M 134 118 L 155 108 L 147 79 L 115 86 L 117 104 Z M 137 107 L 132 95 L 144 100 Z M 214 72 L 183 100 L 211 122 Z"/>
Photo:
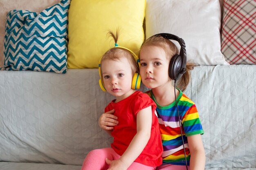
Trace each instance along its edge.
<path fill-rule="evenodd" d="M 145 5 L 146 0 L 72 0 L 67 67 L 98 68 L 101 56 L 115 46 L 108 30 L 117 28 L 118 45 L 136 53 L 144 40 Z"/>

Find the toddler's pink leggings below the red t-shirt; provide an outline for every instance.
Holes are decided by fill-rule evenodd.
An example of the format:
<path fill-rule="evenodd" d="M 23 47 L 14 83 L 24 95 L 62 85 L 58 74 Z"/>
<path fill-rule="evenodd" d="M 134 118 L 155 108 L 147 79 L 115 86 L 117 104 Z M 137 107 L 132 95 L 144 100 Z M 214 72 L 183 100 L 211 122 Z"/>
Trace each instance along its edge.
<path fill-rule="evenodd" d="M 105 158 L 109 160 L 117 160 L 121 156 L 112 148 L 95 149 L 88 153 L 83 161 L 81 170 L 107 170 L 108 164 Z M 127 170 L 155 170 L 156 167 L 146 166 L 141 163 L 133 162 Z"/>

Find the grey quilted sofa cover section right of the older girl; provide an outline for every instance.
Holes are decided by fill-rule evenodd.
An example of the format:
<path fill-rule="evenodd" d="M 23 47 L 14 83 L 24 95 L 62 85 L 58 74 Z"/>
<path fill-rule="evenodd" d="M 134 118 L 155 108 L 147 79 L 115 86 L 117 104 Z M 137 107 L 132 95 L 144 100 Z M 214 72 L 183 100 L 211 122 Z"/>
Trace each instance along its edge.
<path fill-rule="evenodd" d="M 206 170 L 256 169 L 256 65 L 199 66 L 184 92 L 204 129 Z"/>

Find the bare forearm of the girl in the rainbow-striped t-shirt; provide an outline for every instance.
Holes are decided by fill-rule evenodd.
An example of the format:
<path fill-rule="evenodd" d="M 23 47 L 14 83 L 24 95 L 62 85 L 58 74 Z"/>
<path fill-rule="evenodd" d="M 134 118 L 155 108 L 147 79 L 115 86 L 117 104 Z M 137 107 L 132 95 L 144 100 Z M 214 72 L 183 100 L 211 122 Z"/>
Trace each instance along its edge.
<path fill-rule="evenodd" d="M 200 134 L 188 136 L 188 144 L 190 151 L 190 170 L 204 170 L 205 166 L 205 153 Z"/>

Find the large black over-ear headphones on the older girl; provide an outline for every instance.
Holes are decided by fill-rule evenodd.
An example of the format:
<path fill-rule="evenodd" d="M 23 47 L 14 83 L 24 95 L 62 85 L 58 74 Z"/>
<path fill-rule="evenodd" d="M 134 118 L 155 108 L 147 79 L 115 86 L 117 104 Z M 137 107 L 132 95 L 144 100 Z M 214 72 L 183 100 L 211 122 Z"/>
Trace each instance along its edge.
<path fill-rule="evenodd" d="M 186 72 L 186 45 L 182 38 L 169 33 L 159 33 L 153 36 L 163 37 L 167 40 L 175 40 L 180 44 L 180 54 L 175 54 L 169 64 L 169 77 L 173 80 L 178 80 Z"/>

